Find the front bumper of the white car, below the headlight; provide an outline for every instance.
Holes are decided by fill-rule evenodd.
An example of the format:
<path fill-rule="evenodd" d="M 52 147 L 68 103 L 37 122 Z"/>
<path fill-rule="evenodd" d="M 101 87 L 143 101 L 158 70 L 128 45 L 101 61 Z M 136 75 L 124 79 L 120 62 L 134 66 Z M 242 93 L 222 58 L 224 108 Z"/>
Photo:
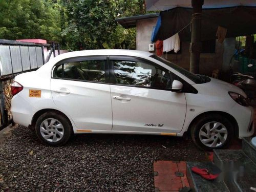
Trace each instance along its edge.
<path fill-rule="evenodd" d="M 240 139 L 254 134 L 254 109 L 251 106 L 236 104 L 228 113 L 237 120 Z"/>

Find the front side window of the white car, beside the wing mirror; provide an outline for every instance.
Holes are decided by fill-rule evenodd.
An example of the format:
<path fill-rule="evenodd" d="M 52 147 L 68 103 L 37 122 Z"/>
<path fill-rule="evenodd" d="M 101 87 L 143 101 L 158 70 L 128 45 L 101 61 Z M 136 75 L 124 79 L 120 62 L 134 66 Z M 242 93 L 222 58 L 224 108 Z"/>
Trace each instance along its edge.
<path fill-rule="evenodd" d="M 173 75 L 146 61 L 113 60 L 115 83 L 129 86 L 172 89 Z"/>

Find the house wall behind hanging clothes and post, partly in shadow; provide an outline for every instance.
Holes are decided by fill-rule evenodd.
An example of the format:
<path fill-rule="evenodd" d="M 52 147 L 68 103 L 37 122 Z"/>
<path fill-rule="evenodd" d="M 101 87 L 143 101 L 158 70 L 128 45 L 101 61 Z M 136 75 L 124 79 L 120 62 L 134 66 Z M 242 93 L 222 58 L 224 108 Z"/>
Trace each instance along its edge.
<path fill-rule="evenodd" d="M 153 26 L 156 25 L 157 18 L 143 19 L 137 21 L 137 50 L 148 51 L 148 44 L 151 43 L 151 34 Z M 176 63 L 180 67 L 189 70 L 190 53 L 189 42 L 181 42 L 181 54 L 167 54 L 162 57 Z M 223 63 L 224 46 L 216 41 L 215 53 L 201 53 L 200 56 L 200 74 L 211 76 L 212 71 L 219 69 L 221 71 Z"/>

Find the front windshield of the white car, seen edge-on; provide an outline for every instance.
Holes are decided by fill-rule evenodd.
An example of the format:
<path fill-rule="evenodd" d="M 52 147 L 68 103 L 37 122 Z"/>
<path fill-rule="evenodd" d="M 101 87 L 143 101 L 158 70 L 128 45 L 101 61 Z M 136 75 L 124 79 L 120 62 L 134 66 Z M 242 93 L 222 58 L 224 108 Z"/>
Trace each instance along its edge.
<path fill-rule="evenodd" d="M 209 82 L 210 81 L 210 78 L 209 77 L 206 77 L 204 75 L 196 75 L 194 73 L 190 73 L 189 71 L 175 65 L 174 63 L 162 58 L 162 57 L 159 57 L 157 55 L 151 55 L 150 57 L 154 58 L 154 59 L 157 59 L 158 61 L 161 61 L 163 63 L 165 63 L 167 66 L 175 69 L 176 71 L 178 71 L 179 73 L 181 73 L 182 75 L 186 76 L 187 78 L 189 78 L 191 81 L 194 81 L 195 83 L 197 84 L 200 84 L 200 83 L 205 83 L 205 82 Z"/>

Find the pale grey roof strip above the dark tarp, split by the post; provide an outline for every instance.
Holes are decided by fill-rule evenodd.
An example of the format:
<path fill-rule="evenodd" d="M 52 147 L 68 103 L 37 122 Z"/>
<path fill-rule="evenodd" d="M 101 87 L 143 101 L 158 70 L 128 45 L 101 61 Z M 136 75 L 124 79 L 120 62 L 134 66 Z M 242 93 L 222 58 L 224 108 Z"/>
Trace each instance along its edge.
<path fill-rule="evenodd" d="M 191 0 L 145 0 L 147 11 L 165 11 L 175 7 L 191 8 Z M 255 0 L 204 0 L 203 9 L 256 6 Z"/>

